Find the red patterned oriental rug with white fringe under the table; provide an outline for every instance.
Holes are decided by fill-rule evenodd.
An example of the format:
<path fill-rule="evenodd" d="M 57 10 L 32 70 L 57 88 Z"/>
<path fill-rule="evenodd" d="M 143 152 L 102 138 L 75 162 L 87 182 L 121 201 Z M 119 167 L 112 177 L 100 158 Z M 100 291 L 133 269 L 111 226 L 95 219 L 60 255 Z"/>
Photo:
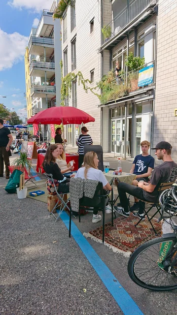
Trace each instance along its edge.
<path fill-rule="evenodd" d="M 112 248 L 115 253 L 122 253 L 125 257 L 129 257 L 138 246 L 157 237 L 148 219 L 141 221 L 135 227 L 134 225 L 137 222 L 138 219 L 130 214 L 129 217 L 121 216 L 116 218 L 113 227 L 111 223 L 105 224 L 104 245 Z M 160 236 L 161 223 L 158 223 L 155 219 L 152 219 L 152 223 Z M 102 226 L 83 235 L 101 243 Z"/>

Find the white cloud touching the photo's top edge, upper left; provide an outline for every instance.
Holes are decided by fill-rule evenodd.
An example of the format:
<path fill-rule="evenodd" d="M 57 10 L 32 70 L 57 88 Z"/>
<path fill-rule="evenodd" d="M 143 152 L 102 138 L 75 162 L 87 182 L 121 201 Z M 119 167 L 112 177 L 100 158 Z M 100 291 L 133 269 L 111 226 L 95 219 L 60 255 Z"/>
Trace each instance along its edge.
<path fill-rule="evenodd" d="M 50 9 L 53 0 L 10 0 L 8 4 L 17 9 L 33 9 L 40 12 L 43 9 Z"/>

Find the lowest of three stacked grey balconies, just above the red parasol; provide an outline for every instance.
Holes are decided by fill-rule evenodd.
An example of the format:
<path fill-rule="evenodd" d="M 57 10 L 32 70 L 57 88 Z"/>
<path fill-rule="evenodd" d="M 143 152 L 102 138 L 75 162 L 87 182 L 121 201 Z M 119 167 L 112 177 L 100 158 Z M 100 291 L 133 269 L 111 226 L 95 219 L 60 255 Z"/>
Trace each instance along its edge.
<path fill-rule="evenodd" d="M 55 86 L 53 85 L 41 85 L 33 83 L 31 86 L 31 97 L 45 98 L 47 94 L 47 98 L 51 100 L 56 94 L 55 90 Z"/>

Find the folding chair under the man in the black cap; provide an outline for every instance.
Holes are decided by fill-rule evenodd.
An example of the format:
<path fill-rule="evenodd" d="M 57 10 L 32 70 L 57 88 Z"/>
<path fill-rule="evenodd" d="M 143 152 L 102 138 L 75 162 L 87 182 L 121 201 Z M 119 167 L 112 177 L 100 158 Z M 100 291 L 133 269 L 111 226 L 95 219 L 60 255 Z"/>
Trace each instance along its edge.
<path fill-rule="evenodd" d="M 174 181 L 173 181 L 174 182 Z M 161 183 L 159 188 L 158 188 L 158 196 L 163 192 L 165 191 L 166 189 L 170 189 L 171 185 L 173 184 L 173 182 L 168 182 L 168 183 Z M 154 233 L 155 235 L 157 235 L 157 232 L 155 230 L 155 228 L 153 227 L 153 224 L 151 222 L 151 220 L 153 219 L 153 217 L 159 213 L 160 216 L 161 216 L 161 213 L 160 213 L 160 209 L 161 207 L 159 206 L 159 197 L 158 197 L 158 201 L 157 202 L 149 202 L 149 201 L 144 201 L 144 200 L 139 200 L 140 202 L 144 202 L 145 205 L 148 206 L 148 209 L 146 210 L 145 207 L 144 207 L 144 216 L 142 216 L 139 221 L 135 224 L 135 227 L 137 227 L 137 225 L 141 222 L 141 220 L 143 220 L 143 218 L 145 218 L 145 216 L 147 215 L 148 217 L 148 220 L 154 230 Z M 151 211 L 152 208 L 156 208 L 157 211 L 153 214 L 153 216 L 149 217 L 148 213 Z"/>

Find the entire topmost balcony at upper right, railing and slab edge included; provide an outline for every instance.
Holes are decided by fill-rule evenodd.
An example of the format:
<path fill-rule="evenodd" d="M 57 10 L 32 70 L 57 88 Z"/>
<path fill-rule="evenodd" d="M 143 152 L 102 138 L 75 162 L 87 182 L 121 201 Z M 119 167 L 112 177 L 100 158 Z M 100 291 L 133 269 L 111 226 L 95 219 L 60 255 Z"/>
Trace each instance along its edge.
<path fill-rule="evenodd" d="M 133 0 L 130 2 L 129 8 L 126 6 L 117 16 L 108 24 L 104 25 L 102 29 L 102 46 L 105 46 L 106 42 L 111 42 L 112 47 L 108 47 L 107 49 L 112 49 L 113 46 L 116 46 L 117 43 L 123 38 L 119 38 L 117 40 L 119 34 L 121 35 L 123 32 L 125 33 L 124 37 L 126 37 L 126 26 L 131 25 L 136 21 L 135 18 L 138 18 L 140 13 L 142 13 L 142 19 L 146 17 L 143 15 L 146 9 L 150 9 L 155 6 L 157 0 Z M 150 13 L 149 13 L 150 14 Z M 152 14 L 152 12 L 151 12 Z M 148 16 L 148 13 L 147 13 Z M 115 42 L 111 41 L 115 39 Z M 105 47 L 102 47 L 105 48 Z"/>

